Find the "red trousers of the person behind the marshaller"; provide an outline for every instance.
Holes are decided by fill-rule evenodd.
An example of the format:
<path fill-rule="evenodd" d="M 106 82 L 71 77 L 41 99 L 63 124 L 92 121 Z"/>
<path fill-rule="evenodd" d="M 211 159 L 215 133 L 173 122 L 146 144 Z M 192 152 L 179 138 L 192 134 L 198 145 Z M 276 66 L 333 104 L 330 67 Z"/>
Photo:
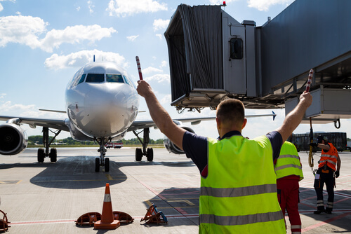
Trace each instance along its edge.
<path fill-rule="evenodd" d="M 298 177 L 296 179 L 277 179 L 278 200 L 285 216 L 288 212 L 291 233 L 301 233 L 301 219 L 298 214 Z"/>

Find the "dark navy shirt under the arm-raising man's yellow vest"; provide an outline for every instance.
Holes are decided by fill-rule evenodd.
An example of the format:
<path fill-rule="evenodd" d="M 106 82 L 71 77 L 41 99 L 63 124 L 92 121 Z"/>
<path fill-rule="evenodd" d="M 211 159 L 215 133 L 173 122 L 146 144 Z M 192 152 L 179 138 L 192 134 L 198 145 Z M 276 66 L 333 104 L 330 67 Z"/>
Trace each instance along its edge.
<path fill-rule="evenodd" d="M 227 132 L 222 139 L 230 138 L 234 135 L 241 136 L 241 133 L 239 131 Z M 272 160 L 274 161 L 279 157 L 280 149 L 282 148 L 282 135 L 277 131 L 272 131 L 267 133 L 266 137 L 270 139 L 270 143 L 272 144 Z M 199 171 L 201 172 L 201 176 L 207 177 L 207 137 L 202 137 L 192 132 L 185 132 L 183 136 L 183 150 L 187 154 L 187 157 L 191 158 L 195 165 L 197 165 L 197 168 L 199 168 Z"/>

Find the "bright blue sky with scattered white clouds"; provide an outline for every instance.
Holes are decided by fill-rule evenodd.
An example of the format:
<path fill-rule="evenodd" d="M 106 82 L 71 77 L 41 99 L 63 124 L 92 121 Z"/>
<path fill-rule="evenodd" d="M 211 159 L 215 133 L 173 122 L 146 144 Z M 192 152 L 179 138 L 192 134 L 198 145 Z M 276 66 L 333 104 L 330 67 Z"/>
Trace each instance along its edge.
<path fill-rule="evenodd" d="M 150 83 L 159 102 L 172 118 L 216 116 L 205 108 L 198 112 L 178 113 L 171 106 L 171 83 L 168 48 L 164 32 L 180 4 L 190 6 L 222 4 L 223 1 L 164 0 L 0 0 L 0 115 L 34 118 L 67 118 L 65 88 L 74 73 L 93 61 L 112 61 L 124 67 L 133 81 L 138 80 L 135 56 L 139 56 L 143 77 Z M 256 26 L 274 18 L 292 0 L 229 0 L 223 8 L 238 22 L 253 20 Z M 140 97 L 139 120 L 151 119 L 143 97 Z M 282 125 L 284 109 L 273 109 L 271 117 L 249 118 L 242 134 L 245 137 L 265 135 Z M 246 114 L 271 113 L 271 110 L 246 109 Z M 1 122 L 4 123 L 4 122 Z M 314 124 L 314 132 L 347 132 L 351 121 Z M 215 121 L 191 125 L 206 137 L 218 137 Z M 41 135 L 41 128 L 22 125 L 27 135 Z M 310 132 L 309 124 L 301 124 L 294 133 Z M 62 132 L 58 139 L 69 137 Z M 134 138 L 128 132 L 126 139 Z M 140 135 L 143 137 L 143 135 Z M 163 138 L 159 130 L 151 130 L 151 139 Z"/>

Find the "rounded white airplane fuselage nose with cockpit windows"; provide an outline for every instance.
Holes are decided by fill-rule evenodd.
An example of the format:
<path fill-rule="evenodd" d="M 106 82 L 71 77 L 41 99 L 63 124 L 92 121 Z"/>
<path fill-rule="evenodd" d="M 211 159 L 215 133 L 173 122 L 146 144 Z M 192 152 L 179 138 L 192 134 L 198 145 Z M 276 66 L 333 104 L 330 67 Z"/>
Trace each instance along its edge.
<path fill-rule="evenodd" d="M 66 124 L 74 139 L 122 138 L 138 115 L 138 108 L 133 81 L 112 62 L 86 64 L 66 88 Z"/>

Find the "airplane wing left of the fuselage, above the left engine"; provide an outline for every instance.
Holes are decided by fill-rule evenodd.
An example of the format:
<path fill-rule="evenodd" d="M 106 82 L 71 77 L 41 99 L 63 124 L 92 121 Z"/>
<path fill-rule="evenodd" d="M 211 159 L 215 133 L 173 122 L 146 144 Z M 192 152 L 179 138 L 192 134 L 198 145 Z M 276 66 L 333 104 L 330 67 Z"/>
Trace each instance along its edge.
<path fill-rule="evenodd" d="M 8 121 L 11 118 L 18 118 L 19 123 L 26 123 L 30 128 L 37 126 L 46 128 L 55 128 L 62 131 L 69 132 L 69 128 L 65 125 L 65 119 L 48 119 L 48 118 L 25 118 L 18 116 L 0 116 L 0 121 Z"/>

